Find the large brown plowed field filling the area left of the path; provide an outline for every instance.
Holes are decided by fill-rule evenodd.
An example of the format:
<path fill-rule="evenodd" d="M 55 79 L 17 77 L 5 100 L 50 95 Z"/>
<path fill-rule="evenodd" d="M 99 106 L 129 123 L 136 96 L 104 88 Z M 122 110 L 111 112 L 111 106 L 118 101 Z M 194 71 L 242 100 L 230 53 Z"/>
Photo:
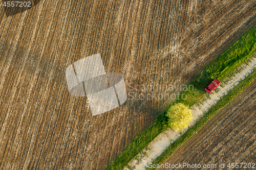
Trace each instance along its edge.
<path fill-rule="evenodd" d="M 170 102 L 128 96 L 92 116 L 87 98 L 69 95 L 73 62 L 100 53 L 127 92 L 179 85 L 256 22 L 252 0 L 0 2 L 0 169 L 103 169 Z"/>

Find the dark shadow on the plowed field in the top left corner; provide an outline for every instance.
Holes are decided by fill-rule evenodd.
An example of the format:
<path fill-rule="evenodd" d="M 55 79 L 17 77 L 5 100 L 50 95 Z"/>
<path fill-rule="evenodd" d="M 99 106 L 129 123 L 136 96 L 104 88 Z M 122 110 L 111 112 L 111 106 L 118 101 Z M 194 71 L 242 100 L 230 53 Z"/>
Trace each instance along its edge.
<path fill-rule="evenodd" d="M 7 16 L 12 16 L 36 6 L 40 0 L 2 0 L 1 6 L 4 7 Z"/>

